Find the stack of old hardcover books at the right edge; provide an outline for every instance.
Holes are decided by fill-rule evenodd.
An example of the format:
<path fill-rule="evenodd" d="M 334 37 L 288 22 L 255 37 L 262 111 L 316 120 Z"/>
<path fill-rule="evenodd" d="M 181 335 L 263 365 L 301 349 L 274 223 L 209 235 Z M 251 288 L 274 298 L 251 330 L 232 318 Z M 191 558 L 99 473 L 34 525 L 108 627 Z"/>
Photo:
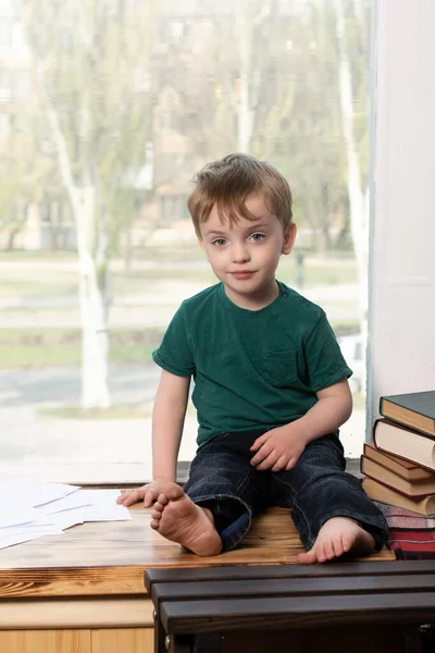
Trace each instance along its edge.
<path fill-rule="evenodd" d="M 363 488 L 374 501 L 435 513 L 435 391 L 385 396 L 372 444 L 361 456 Z"/>

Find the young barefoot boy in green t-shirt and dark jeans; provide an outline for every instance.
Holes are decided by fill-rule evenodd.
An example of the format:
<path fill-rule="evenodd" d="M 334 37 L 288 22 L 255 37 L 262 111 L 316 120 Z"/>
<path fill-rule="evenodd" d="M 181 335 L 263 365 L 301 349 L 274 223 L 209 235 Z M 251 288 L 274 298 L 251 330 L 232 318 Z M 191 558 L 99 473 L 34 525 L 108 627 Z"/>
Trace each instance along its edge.
<path fill-rule="evenodd" d="M 345 472 L 338 439 L 352 372 L 324 311 L 275 280 L 296 237 L 286 180 L 229 155 L 195 183 L 188 208 L 220 283 L 183 301 L 153 354 L 154 480 L 119 503 L 156 502 L 151 527 L 197 555 L 235 547 L 270 505 L 291 508 L 308 550 L 299 563 L 381 549 L 384 517 Z M 183 491 L 176 460 L 191 377 L 199 448 Z"/>

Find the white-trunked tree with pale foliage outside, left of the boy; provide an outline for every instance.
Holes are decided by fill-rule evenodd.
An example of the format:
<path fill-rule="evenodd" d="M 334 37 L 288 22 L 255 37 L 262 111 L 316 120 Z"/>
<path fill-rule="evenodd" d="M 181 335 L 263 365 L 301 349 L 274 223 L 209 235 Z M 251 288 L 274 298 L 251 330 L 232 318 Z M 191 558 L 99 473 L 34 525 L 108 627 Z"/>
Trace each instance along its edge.
<path fill-rule="evenodd" d="M 154 2 L 24 1 L 36 88 L 74 214 L 82 316 L 82 405 L 110 405 L 110 259 L 120 197 L 144 163 Z M 74 26 L 74 28 L 72 28 Z"/>

